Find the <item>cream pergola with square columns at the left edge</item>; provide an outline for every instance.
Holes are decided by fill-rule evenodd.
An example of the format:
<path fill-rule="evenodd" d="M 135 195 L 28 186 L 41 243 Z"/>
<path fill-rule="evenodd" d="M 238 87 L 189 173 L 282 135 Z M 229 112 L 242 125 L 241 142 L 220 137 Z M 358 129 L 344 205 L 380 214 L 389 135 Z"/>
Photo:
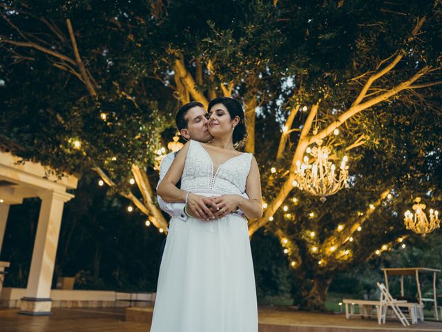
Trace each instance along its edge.
<path fill-rule="evenodd" d="M 0 252 L 10 205 L 39 197 L 41 207 L 35 235 L 28 286 L 21 298 L 20 311 L 26 315 L 50 315 L 50 287 L 64 203 L 74 197 L 66 192 L 77 188 L 78 179 L 48 175 L 40 163 L 18 163 L 20 158 L 0 146 Z M 4 263 L 4 262 L 3 262 Z M 7 263 L 7 262 L 6 262 Z M 11 262 L 14 264 L 14 262 Z"/>

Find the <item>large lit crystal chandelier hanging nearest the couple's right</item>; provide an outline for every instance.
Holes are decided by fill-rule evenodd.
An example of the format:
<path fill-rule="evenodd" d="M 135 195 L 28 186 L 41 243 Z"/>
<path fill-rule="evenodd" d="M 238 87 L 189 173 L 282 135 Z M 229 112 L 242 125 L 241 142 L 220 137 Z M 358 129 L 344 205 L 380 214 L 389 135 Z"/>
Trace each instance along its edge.
<path fill-rule="evenodd" d="M 309 163 L 309 157 L 304 157 L 304 163 L 300 160 L 296 162 L 295 181 L 293 185 L 300 190 L 305 190 L 315 196 L 320 196 L 320 201 L 325 202 L 325 196 L 338 192 L 343 187 L 348 187 L 348 158 L 344 156 L 340 163 L 340 172 L 336 174 L 336 165 L 327 158 L 330 155 L 328 147 L 321 147 L 322 142 L 317 143 L 317 147 L 307 147 L 307 154 L 316 157 L 314 163 Z"/>

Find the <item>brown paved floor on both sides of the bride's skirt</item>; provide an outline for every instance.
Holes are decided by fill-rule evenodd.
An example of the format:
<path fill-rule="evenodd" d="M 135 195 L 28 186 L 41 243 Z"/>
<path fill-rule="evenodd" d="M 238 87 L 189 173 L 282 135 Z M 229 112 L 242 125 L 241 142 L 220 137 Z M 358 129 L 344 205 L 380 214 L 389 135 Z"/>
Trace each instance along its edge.
<path fill-rule="evenodd" d="M 17 309 L 0 310 L 1 332 L 83 332 L 119 331 L 148 332 L 149 324 L 124 321 L 124 308 L 53 308 L 53 315 L 35 317 L 18 315 Z M 291 308 L 260 307 L 259 332 L 366 332 L 366 331 L 442 331 L 442 322 L 424 322 L 403 328 L 397 321 L 379 326 L 377 321 L 344 315 L 328 315 L 291 310 Z M 211 332 L 211 331 L 207 331 Z M 240 331 L 231 331 L 240 332 Z"/>

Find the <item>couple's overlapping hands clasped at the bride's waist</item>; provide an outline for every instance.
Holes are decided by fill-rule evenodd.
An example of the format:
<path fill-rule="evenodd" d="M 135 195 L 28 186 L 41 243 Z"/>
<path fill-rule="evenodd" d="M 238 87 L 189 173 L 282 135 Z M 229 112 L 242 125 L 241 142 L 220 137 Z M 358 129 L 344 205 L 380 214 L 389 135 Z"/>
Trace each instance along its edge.
<path fill-rule="evenodd" d="M 187 212 L 198 219 L 210 220 L 218 219 L 238 210 L 238 205 L 242 196 L 221 195 L 221 196 L 201 196 L 189 193 L 187 201 Z"/>

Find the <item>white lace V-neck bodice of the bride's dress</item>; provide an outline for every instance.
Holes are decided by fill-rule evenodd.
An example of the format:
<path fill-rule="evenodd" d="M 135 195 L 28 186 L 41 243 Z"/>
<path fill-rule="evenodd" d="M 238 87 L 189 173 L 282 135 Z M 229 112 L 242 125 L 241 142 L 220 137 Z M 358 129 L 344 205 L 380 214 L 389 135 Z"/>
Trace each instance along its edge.
<path fill-rule="evenodd" d="M 242 194 L 245 192 L 252 154 L 227 159 L 214 169 L 209 153 L 196 140 L 190 141 L 181 178 L 181 189 L 198 194 Z"/>

